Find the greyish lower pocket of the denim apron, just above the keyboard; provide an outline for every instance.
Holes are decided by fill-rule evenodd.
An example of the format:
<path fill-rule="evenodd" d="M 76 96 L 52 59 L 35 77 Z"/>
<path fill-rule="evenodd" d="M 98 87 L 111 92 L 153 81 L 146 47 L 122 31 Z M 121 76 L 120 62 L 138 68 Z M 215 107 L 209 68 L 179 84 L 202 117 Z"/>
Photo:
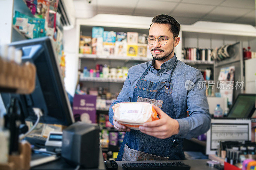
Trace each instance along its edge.
<path fill-rule="evenodd" d="M 124 154 L 122 161 L 134 161 L 134 160 L 168 160 L 169 157 L 161 157 L 152 155 L 145 152 L 136 151 L 134 149 L 130 149 L 126 144 L 124 144 Z"/>

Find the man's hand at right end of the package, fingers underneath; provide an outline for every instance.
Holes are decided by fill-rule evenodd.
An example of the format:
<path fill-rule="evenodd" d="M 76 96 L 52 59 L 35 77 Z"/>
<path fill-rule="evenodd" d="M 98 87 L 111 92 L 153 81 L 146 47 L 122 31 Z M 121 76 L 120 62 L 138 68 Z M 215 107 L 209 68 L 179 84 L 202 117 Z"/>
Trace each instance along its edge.
<path fill-rule="evenodd" d="M 165 139 L 179 133 L 180 124 L 177 120 L 166 115 L 159 107 L 153 105 L 159 116 L 159 120 L 146 122 L 139 129 L 142 133 L 153 137 Z"/>

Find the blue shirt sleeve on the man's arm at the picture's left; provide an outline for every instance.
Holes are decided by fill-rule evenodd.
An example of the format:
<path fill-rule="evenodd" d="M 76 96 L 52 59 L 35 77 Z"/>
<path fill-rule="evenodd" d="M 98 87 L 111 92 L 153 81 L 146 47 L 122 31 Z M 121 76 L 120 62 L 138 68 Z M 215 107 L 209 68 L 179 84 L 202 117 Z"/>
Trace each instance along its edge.
<path fill-rule="evenodd" d="M 114 106 L 116 103 L 131 102 L 130 89 L 131 89 L 131 82 L 129 80 L 129 71 L 128 71 L 128 76 L 124 81 L 124 85 L 121 92 L 117 96 L 117 99 L 114 100 L 113 103 L 110 105 L 108 110 L 109 122 L 111 124 L 113 124 L 113 116 L 114 116 L 112 106 Z"/>

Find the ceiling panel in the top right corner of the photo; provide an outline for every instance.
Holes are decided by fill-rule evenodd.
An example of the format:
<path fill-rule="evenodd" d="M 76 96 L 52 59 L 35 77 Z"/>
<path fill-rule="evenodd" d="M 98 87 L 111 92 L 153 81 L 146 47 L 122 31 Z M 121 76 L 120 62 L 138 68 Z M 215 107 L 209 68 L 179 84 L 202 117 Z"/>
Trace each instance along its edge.
<path fill-rule="evenodd" d="M 255 9 L 255 0 L 226 0 L 221 6 Z"/>

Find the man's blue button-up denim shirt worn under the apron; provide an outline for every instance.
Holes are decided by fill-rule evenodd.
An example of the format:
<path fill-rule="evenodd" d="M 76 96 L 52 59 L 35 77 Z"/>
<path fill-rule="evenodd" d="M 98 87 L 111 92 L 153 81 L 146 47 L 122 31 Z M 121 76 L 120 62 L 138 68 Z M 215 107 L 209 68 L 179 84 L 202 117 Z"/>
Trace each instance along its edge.
<path fill-rule="evenodd" d="M 153 67 L 149 69 L 144 80 L 165 82 L 165 80 L 169 78 L 176 60 L 177 57 L 175 54 L 170 60 L 161 65 L 159 71 L 154 68 L 154 59 L 146 63 L 132 66 L 128 71 L 128 77 L 124 81 L 122 91 L 109 108 L 108 115 L 110 123 L 113 124 L 114 115 L 111 107 L 116 103 L 131 102 L 134 87 L 150 64 L 152 64 Z M 195 85 L 194 88 L 186 88 L 186 80 L 192 81 Z M 171 83 L 173 84 L 172 98 L 174 112 L 176 114 L 176 120 L 180 124 L 180 131 L 176 137 L 190 139 L 207 132 L 210 128 L 211 116 L 209 114 L 209 106 L 205 94 L 206 87 L 202 86 L 203 81 L 204 78 L 201 71 L 178 60 L 171 79 Z M 187 115 L 187 111 L 189 112 L 188 117 L 184 116 L 184 114 Z"/>

